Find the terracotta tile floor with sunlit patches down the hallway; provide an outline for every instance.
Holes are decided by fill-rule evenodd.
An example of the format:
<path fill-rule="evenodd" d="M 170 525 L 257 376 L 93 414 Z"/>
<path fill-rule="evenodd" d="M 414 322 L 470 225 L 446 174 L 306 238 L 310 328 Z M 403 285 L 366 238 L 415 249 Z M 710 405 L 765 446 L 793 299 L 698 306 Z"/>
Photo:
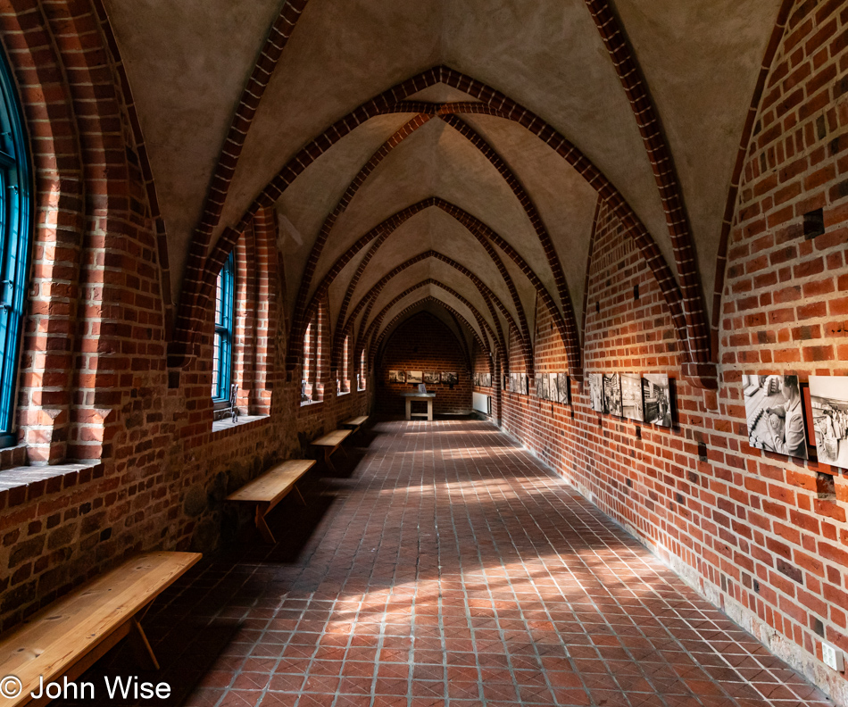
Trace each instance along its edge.
<path fill-rule="evenodd" d="M 176 702 L 832 704 L 495 428 L 366 444 L 148 617 Z"/>

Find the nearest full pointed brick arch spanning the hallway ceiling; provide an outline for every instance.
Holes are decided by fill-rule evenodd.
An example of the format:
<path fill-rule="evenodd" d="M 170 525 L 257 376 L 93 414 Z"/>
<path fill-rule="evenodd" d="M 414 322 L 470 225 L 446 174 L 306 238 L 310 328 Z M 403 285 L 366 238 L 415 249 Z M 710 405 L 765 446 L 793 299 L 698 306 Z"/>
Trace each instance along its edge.
<path fill-rule="evenodd" d="M 412 96 L 423 88 L 436 83 L 445 83 L 447 86 L 468 93 L 470 96 L 477 98 L 479 103 L 467 102 L 438 105 L 405 102 L 408 96 Z M 334 123 L 319 137 L 316 137 L 311 143 L 304 146 L 298 154 L 295 154 L 295 157 L 287 162 L 277 176 L 271 179 L 270 183 L 256 197 L 254 203 L 245 211 L 242 221 L 250 220 L 253 212 L 259 207 L 270 206 L 276 203 L 288 185 L 339 139 L 345 137 L 358 125 L 362 124 L 362 122 L 389 112 L 437 112 L 443 114 L 470 112 L 494 115 L 519 123 L 522 127 L 528 129 L 536 137 L 539 137 L 551 146 L 554 152 L 560 154 L 563 159 L 568 161 L 594 187 L 599 195 L 611 205 L 613 211 L 619 216 L 619 220 L 627 227 L 628 236 L 634 238 L 637 247 L 643 252 L 646 262 L 648 262 L 649 267 L 653 270 L 654 278 L 660 284 L 661 292 L 669 305 L 669 310 L 672 312 L 678 337 L 686 351 L 686 370 L 689 378 L 692 378 L 693 382 L 699 386 L 713 387 L 715 385 L 714 366 L 710 361 L 710 349 L 705 340 L 706 328 L 703 326 L 705 315 L 700 290 L 694 295 L 688 291 L 686 292 L 686 296 L 681 294 L 680 287 L 678 287 L 671 270 L 669 270 L 668 263 L 662 257 L 660 249 L 653 241 L 647 229 L 644 228 L 644 224 L 636 216 L 636 213 L 619 193 L 618 189 L 612 186 L 609 179 L 603 175 L 603 172 L 598 170 L 586 158 L 586 155 L 578 150 L 577 146 L 570 143 L 569 140 L 539 116 L 523 108 L 520 104 L 516 104 L 507 96 L 495 91 L 495 89 L 458 71 L 453 71 L 448 67 L 437 66 L 412 77 L 412 79 L 407 79 L 403 83 L 389 88 L 384 93 L 360 105 L 353 112 L 348 113 L 344 118 Z M 677 251 L 676 254 L 678 254 Z M 676 264 L 680 272 L 690 274 L 694 272 L 694 262 L 679 261 Z M 681 276 L 681 281 L 685 284 L 688 283 L 691 280 L 690 274 L 687 274 L 686 277 Z M 694 277 L 697 278 L 696 273 L 694 273 Z M 187 287 L 192 287 L 192 281 L 190 279 L 187 282 Z M 194 287 L 196 288 L 196 285 Z M 178 335 L 183 338 L 191 336 L 189 325 L 192 320 L 192 307 L 197 304 L 203 304 L 195 303 L 195 295 L 191 293 L 184 296 L 184 300 L 186 303 L 185 308 L 183 304 L 180 305 L 181 309 L 178 319 Z"/>

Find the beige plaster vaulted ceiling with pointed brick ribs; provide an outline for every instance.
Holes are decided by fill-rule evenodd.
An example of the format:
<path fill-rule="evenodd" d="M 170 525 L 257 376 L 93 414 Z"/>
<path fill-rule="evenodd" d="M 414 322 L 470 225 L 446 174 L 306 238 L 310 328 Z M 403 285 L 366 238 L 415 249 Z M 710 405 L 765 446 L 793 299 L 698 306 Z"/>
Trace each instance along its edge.
<path fill-rule="evenodd" d="M 208 254 L 245 213 L 272 204 L 290 311 L 326 292 L 334 328 L 347 322 L 354 336 L 376 338 L 398 312 L 437 301 L 494 349 L 509 325 L 532 337 L 537 296 L 557 308 L 562 331 L 580 320 L 599 179 L 686 280 L 667 220 L 673 202 L 652 165 L 658 141 L 640 132 L 645 113 L 631 104 L 628 76 L 644 77 L 636 90 L 676 171 L 695 287 L 711 293 L 779 0 L 104 4 L 175 299 L 192 248 Z M 611 58 L 617 37 L 629 52 L 623 68 Z M 261 92 L 249 83 L 257 75 Z M 331 129 L 345 119 L 345 130 Z M 570 157 L 551 136 L 575 148 Z M 316 139 L 303 168 L 297 155 Z M 709 316 L 711 297 L 703 304 Z"/>

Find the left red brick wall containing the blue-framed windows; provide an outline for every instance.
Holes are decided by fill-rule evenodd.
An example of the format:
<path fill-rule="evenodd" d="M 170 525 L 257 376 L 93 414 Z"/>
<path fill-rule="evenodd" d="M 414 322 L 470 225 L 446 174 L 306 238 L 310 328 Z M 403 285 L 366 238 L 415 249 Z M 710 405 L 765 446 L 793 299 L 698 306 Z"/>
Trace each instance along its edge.
<path fill-rule="evenodd" d="M 0 461 L 54 464 L 0 472 L 0 630 L 128 553 L 211 550 L 237 520 L 227 493 L 367 406 L 365 394 L 331 394 L 299 419 L 276 226 L 264 211 L 236 246 L 234 373 L 243 412 L 267 416 L 213 429 L 213 301 L 187 364 L 168 368 L 167 250 L 120 67 L 89 9 L 54 3 L 46 18 L 35 0 L 0 0 L 37 224 L 22 444 Z M 79 459 L 94 465 L 56 466 Z"/>

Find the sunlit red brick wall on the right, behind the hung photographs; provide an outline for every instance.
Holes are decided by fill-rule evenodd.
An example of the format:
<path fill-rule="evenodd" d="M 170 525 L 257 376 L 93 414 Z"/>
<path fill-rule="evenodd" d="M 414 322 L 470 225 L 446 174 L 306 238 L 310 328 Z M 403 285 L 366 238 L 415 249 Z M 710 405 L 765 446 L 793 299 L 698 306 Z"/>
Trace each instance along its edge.
<path fill-rule="evenodd" d="M 821 637 L 848 651 L 848 477 L 748 445 L 742 373 L 846 375 L 848 367 L 848 11 L 797 4 L 746 152 L 727 251 L 718 410 L 680 378 L 659 287 L 602 207 L 587 296 L 584 366 L 667 372 L 678 425 L 575 417 L 506 395 L 505 427 L 693 586 L 843 702 L 848 682 L 820 663 Z M 826 232 L 803 235 L 822 208 Z M 634 286 L 638 285 L 636 300 Z M 596 309 L 597 307 L 597 309 Z M 545 313 L 539 312 L 544 329 Z M 537 333 L 538 337 L 538 333 Z M 536 341 L 536 366 L 553 353 Z M 511 356 L 513 365 L 520 359 Z M 709 407 L 708 407 L 709 406 Z M 637 434 L 638 433 L 638 434 Z M 835 473 L 836 498 L 817 474 Z"/>

